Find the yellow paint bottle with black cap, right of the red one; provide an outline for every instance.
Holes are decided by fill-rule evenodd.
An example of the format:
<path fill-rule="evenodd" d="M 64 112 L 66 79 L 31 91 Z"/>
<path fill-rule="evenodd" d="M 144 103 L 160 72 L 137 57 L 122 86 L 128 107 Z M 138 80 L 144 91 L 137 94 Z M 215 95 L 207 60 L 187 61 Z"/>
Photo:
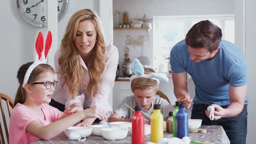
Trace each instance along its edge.
<path fill-rule="evenodd" d="M 160 104 L 154 105 L 153 113 L 150 116 L 151 142 L 157 143 L 164 138 L 164 116 L 160 110 Z"/>

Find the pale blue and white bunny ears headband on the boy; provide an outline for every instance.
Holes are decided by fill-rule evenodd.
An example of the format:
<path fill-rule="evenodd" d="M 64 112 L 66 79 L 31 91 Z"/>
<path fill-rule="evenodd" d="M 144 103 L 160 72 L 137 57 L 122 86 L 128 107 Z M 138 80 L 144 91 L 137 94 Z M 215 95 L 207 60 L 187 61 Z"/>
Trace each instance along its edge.
<path fill-rule="evenodd" d="M 135 58 L 132 62 L 132 71 L 135 75 L 131 76 L 130 82 L 133 79 L 137 79 L 139 77 L 145 77 L 147 79 L 156 80 L 158 82 L 158 85 L 159 85 L 160 81 L 166 81 L 166 82 L 169 81 L 168 77 L 162 73 L 151 73 L 149 75 L 144 74 L 144 67 L 141 64 L 141 62 L 139 62 L 139 60 L 137 58 Z"/>

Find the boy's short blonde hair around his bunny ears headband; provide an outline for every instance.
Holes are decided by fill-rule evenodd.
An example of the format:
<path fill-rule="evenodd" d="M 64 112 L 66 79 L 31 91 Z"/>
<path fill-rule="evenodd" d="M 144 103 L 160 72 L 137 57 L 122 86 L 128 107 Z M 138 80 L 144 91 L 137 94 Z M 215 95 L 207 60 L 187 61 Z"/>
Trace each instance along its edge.
<path fill-rule="evenodd" d="M 144 74 L 151 74 L 151 73 L 155 73 L 155 71 L 152 68 L 144 68 Z M 139 77 L 131 81 L 132 92 L 135 89 L 150 89 L 150 88 L 154 88 L 155 90 L 157 90 L 158 82 L 156 80 L 147 79 L 145 77 Z"/>

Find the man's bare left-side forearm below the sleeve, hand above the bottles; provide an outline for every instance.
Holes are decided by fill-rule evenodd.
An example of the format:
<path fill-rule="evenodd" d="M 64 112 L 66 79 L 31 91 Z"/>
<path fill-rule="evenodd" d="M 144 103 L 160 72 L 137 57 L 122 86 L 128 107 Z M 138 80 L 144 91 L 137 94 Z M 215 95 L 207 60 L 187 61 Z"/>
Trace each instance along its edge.
<path fill-rule="evenodd" d="M 188 93 L 188 82 L 187 82 L 187 72 L 174 73 L 172 72 L 172 81 L 174 94 L 179 101 L 186 102 L 186 108 L 188 109 L 191 105 L 192 99 L 189 97 Z"/>

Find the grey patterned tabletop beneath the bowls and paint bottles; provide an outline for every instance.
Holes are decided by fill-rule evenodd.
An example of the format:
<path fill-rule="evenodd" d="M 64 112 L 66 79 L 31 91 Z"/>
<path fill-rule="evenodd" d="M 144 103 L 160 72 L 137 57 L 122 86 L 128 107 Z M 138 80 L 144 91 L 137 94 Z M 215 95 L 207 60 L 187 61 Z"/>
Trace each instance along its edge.
<path fill-rule="evenodd" d="M 212 142 L 216 143 L 230 143 L 228 136 L 226 135 L 222 126 L 219 125 L 202 125 L 200 128 L 207 129 L 207 133 L 189 133 L 191 141 L 197 142 Z M 164 137 L 172 137 L 172 134 L 164 133 Z M 150 141 L 150 135 L 145 136 L 145 143 Z M 67 136 L 64 134 L 57 135 L 54 139 L 49 141 L 36 141 L 32 143 L 90 143 L 90 144 L 111 144 L 111 143 L 131 143 L 131 135 L 128 134 L 123 140 L 109 141 L 105 140 L 102 136 L 89 136 L 84 142 L 71 141 L 68 140 Z"/>

